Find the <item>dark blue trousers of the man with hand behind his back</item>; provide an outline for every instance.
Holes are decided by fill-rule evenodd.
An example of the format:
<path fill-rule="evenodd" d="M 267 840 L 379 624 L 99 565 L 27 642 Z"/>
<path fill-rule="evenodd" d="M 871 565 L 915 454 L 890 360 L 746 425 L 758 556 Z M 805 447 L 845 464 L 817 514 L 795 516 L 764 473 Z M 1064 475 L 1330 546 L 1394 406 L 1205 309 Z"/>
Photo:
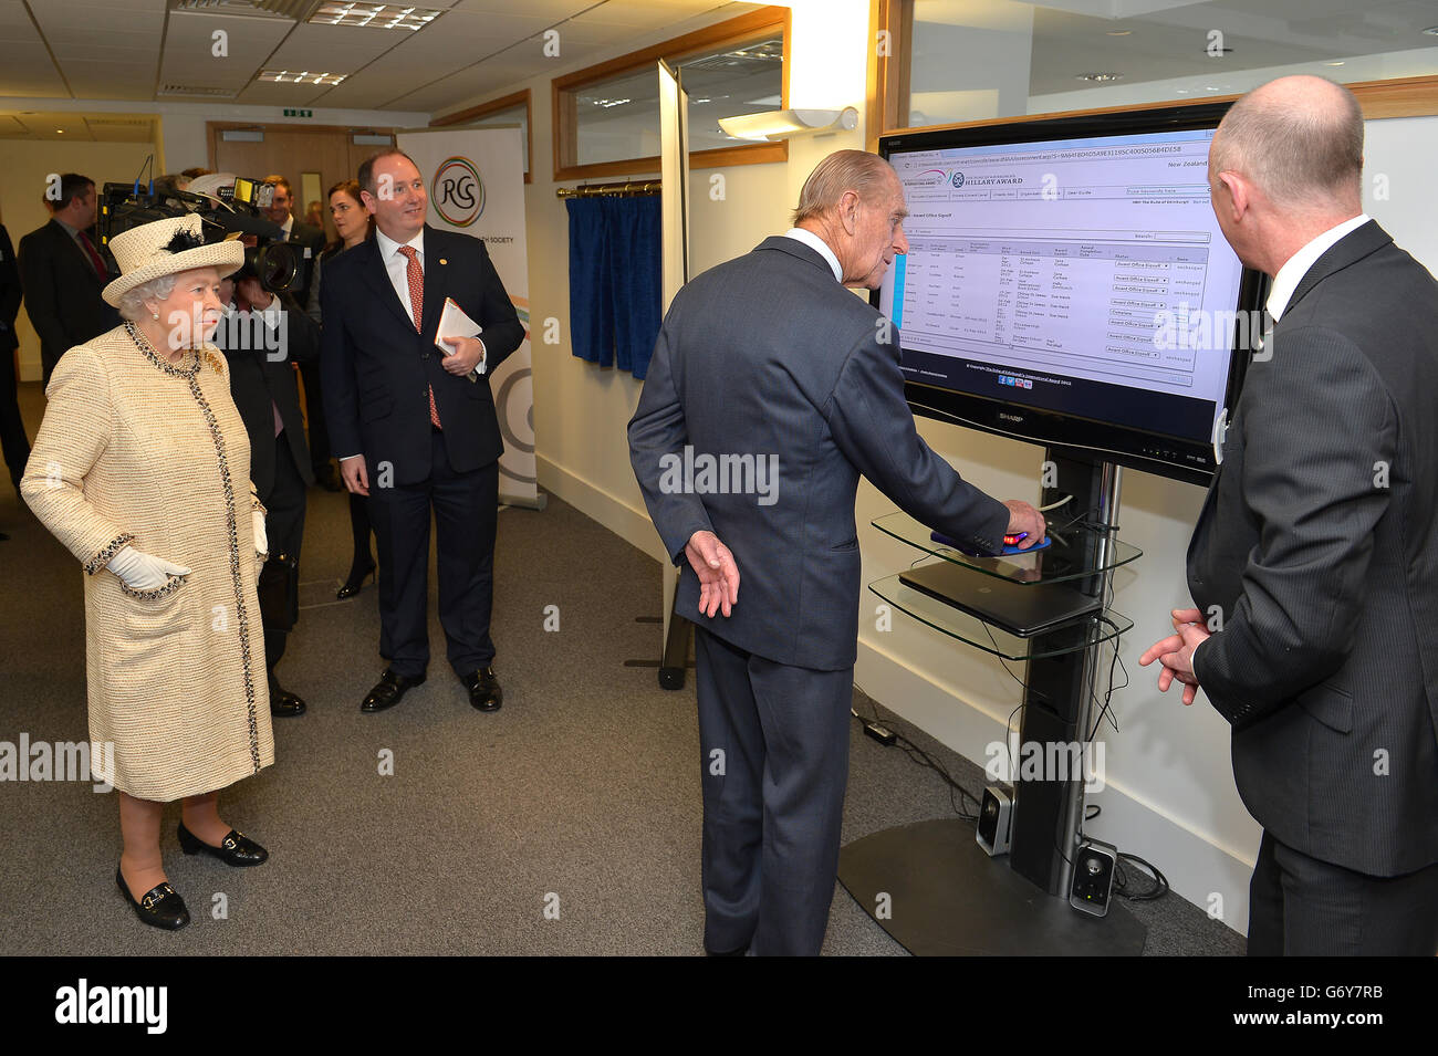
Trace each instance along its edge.
<path fill-rule="evenodd" d="M 703 628 L 695 657 L 705 948 L 818 954 L 838 871 L 854 670 L 775 664 Z"/>

